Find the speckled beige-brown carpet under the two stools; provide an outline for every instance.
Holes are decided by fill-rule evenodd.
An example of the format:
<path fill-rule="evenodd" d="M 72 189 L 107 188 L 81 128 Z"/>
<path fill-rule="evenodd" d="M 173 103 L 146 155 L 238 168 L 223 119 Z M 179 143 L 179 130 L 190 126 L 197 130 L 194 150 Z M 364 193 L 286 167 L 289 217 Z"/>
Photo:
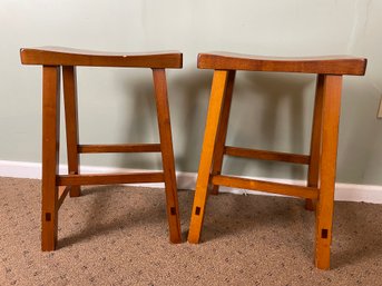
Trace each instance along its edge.
<path fill-rule="evenodd" d="M 188 229 L 193 191 L 179 191 Z M 313 267 L 302 201 L 210 197 L 203 243 L 168 243 L 164 191 L 91 187 L 59 213 L 40 252 L 40 181 L 0 178 L 0 285 L 382 285 L 382 205 L 336 203 L 332 270 Z"/>

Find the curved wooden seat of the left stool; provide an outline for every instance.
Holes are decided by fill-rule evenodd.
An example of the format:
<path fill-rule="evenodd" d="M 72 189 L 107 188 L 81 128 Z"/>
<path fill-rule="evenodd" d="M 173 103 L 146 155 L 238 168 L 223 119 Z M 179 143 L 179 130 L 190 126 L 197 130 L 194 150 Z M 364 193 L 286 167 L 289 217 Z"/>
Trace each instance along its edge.
<path fill-rule="evenodd" d="M 89 66 L 130 68 L 182 68 L 183 55 L 178 51 L 118 53 L 79 50 L 62 47 L 20 49 L 23 65 Z"/>

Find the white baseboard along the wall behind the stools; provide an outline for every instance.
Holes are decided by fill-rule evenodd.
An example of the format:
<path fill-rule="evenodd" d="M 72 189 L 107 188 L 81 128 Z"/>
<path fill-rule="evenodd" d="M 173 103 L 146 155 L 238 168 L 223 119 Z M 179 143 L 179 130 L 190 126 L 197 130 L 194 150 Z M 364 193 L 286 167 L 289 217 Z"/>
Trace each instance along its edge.
<path fill-rule="evenodd" d="M 121 169 L 121 168 L 110 168 L 110 167 L 91 167 L 82 166 L 81 172 L 114 172 L 114 171 L 150 171 L 150 170 L 134 170 L 134 169 Z M 67 166 L 60 166 L 60 174 L 67 174 Z M 179 189 L 195 189 L 196 177 L 195 172 L 183 172 L 176 174 L 177 184 Z M 0 160 L 0 177 L 13 177 L 13 178 L 30 178 L 40 179 L 41 178 L 41 164 L 38 162 L 23 162 L 23 161 L 6 161 Z M 291 185 L 304 185 L 302 180 L 288 180 L 288 179 L 270 179 L 270 178 L 256 178 L 261 180 L 272 180 L 277 183 L 291 184 Z M 163 183 L 154 184 L 135 184 L 136 186 L 146 187 L 164 187 Z M 221 187 L 224 193 L 233 194 L 255 194 L 255 195 L 271 195 L 273 194 L 227 188 Z M 373 185 L 355 185 L 355 184 L 335 184 L 335 200 L 344 201 L 365 201 L 373 204 L 382 204 L 382 186 Z"/>

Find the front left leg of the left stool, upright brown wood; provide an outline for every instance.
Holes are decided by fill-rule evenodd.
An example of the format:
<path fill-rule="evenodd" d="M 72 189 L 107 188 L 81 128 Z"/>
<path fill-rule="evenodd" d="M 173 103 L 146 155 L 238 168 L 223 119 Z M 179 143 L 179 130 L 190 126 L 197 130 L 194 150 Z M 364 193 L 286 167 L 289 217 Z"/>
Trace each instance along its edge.
<path fill-rule="evenodd" d="M 60 68 L 42 68 L 42 203 L 41 249 L 55 250 L 58 230 L 58 186 L 60 136 Z"/>

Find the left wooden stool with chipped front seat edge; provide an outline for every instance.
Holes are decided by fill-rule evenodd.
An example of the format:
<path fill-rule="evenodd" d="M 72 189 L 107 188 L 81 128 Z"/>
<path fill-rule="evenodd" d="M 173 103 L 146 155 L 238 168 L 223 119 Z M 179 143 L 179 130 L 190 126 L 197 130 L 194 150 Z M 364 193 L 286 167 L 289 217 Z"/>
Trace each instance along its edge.
<path fill-rule="evenodd" d="M 57 47 L 21 49 L 23 65 L 42 66 L 42 250 L 57 245 L 58 209 L 67 194 L 80 195 L 81 185 L 165 183 L 169 239 L 180 243 L 180 224 L 174 166 L 166 68 L 182 68 L 177 51 L 106 53 Z M 80 145 L 78 139 L 76 66 L 150 68 L 154 75 L 160 144 Z M 63 75 L 68 175 L 59 175 L 60 69 Z M 95 152 L 161 152 L 163 171 L 138 174 L 79 174 L 79 155 Z"/>

